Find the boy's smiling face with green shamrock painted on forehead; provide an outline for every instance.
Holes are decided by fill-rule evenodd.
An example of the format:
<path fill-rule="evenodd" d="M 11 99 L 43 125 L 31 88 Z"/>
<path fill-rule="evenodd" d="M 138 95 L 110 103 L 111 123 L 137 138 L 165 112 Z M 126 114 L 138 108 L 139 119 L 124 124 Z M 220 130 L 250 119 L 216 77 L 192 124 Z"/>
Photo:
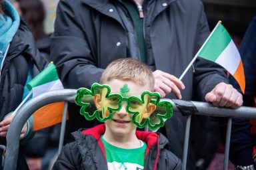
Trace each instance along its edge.
<path fill-rule="evenodd" d="M 147 89 L 147 87 L 140 87 L 135 82 L 131 80 L 111 80 L 107 83 L 111 88 L 111 94 L 118 93 L 121 94 L 121 96 L 128 98 L 129 96 L 137 96 L 138 98 L 141 98 L 141 94 Z M 101 111 L 107 110 L 107 107 L 113 106 L 116 104 L 117 101 L 115 101 L 115 98 L 105 98 L 107 94 L 107 89 L 103 89 L 101 96 L 100 96 L 100 105 L 101 105 Z M 136 110 L 139 112 L 139 122 L 143 118 L 147 118 L 149 114 L 147 114 L 147 108 L 148 106 L 148 100 L 149 96 L 145 95 L 144 103 L 133 103 L 131 101 L 131 106 L 129 107 L 130 110 Z M 121 110 L 118 112 L 114 112 L 113 118 L 110 120 L 105 121 L 106 125 L 106 133 L 112 133 L 113 135 L 127 135 L 129 133 L 135 134 L 135 129 L 137 126 L 131 122 L 131 114 L 127 113 L 126 110 L 127 102 L 123 101 L 121 102 Z M 102 113 L 103 118 L 105 114 L 108 114 L 108 112 Z M 151 114 L 151 113 L 150 113 Z"/>

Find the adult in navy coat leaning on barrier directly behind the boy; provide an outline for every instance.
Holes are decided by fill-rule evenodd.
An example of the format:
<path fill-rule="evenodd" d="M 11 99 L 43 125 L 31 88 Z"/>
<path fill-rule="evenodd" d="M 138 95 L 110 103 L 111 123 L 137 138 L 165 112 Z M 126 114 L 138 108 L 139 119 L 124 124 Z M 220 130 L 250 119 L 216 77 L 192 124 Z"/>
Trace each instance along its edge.
<path fill-rule="evenodd" d="M 51 57 L 65 88 L 89 88 L 99 82 L 110 62 L 131 57 L 151 68 L 154 90 L 162 97 L 232 108 L 243 103 L 241 94 L 228 84 L 225 70 L 203 58 L 197 58 L 179 80 L 210 33 L 199 0 L 63 0 L 57 7 L 54 30 Z M 75 104 L 69 105 L 66 141 L 71 131 L 99 124 L 86 122 L 78 112 Z M 185 122 L 185 116 L 174 114 L 159 129 L 169 139 L 169 150 L 179 158 Z M 188 169 L 195 169 L 194 154 L 188 155 Z"/>

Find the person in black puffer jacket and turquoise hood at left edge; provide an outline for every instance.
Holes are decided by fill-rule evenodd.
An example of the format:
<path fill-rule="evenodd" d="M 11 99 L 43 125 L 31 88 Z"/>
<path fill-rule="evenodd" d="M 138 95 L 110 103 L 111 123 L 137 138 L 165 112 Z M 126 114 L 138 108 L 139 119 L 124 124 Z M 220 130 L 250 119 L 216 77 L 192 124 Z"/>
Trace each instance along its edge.
<path fill-rule="evenodd" d="M 20 20 L 19 14 L 7 0 L 0 1 L 0 63 L 0 143 L 6 145 L 7 130 L 15 115 L 11 113 L 29 93 L 26 83 L 46 64 L 46 60 L 40 57 L 29 27 Z M 27 133 L 31 128 L 33 122 L 29 119 L 21 131 L 21 138 L 31 137 L 31 133 Z M 22 151 L 19 151 L 17 167 L 28 169 Z"/>

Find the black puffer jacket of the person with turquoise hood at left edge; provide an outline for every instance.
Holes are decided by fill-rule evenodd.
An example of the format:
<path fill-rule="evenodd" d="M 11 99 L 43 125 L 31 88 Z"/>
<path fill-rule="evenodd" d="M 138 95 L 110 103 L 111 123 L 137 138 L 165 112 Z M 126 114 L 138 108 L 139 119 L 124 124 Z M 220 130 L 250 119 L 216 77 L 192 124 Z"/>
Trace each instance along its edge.
<path fill-rule="evenodd" d="M 30 64 L 31 65 L 30 65 Z M 0 119 L 13 112 L 22 102 L 24 86 L 29 66 L 33 66 L 33 76 L 43 70 L 46 60 L 41 58 L 35 47 L 33 35 L 29 27 L 21 20 L 19 29 L 11 41 L 3 69 L 0 84 Z M 6 138 L 0 138 L 1 145 L 6 145 Z M 0 151 L 1 152 L 1 151 Z M 28 169 L 19 151 L 18 169 Z M 1 157 L 1 156 L 0 156 Z"/>

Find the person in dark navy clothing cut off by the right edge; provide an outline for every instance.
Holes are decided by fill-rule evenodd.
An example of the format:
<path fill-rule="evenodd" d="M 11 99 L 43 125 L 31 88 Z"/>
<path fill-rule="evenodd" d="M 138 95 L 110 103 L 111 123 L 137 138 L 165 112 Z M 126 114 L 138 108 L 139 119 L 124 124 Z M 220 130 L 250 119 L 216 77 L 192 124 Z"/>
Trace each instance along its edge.
<path fill-rule="evenodd" d="M 256 17 L 254 17 L 243 36 L 239 52 L 245 70 L 245 93 L 243 94 L 243 106 L 256 106 Z M 239 84 L 234 78 L 230 77 L 230 82 L 237 90 L 240 90 Z M 225 130 L 226 122 L 221 124 Z M 225 140 L 225 133 L 223 133 Z M 251 169 L 249 166 L 256 167 L 256 123 L 255 120 L 233 119 L 230 139 L 229 158 L 235 164 L 237 169 Z"/>

